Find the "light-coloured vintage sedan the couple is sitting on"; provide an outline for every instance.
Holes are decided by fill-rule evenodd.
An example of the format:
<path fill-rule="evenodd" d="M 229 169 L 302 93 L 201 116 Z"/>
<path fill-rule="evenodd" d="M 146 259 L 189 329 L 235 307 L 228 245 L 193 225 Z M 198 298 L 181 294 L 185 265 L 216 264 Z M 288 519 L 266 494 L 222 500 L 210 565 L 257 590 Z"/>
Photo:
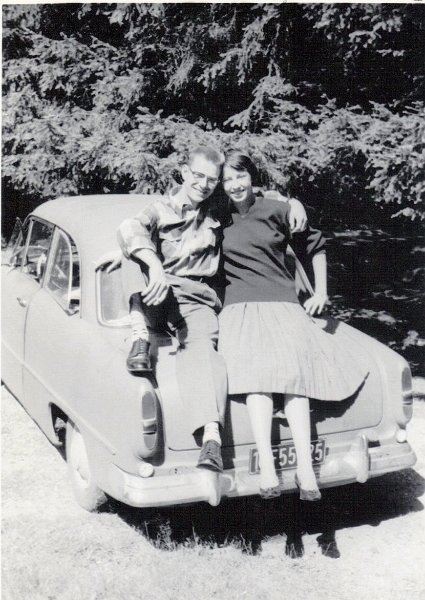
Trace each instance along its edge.
<path fill-rule="evenodd" d="M 130 327 L 121 269 L 108 266 L 119 251 L 120 222 L 157 197 L 50 200 L 23 223 L 17 220 L 2 259 L 2 380 L 50 442 L 63 448 L 76 500 L 87 510 L 108 497 L 143 508 L 215 506 L 223 497 L 259 493 L 258 454 L 240 398 L 228 402 L 218 475 L 196 468 L 199 446 L 185 427 L 176 340 L 152 331 L 153 373 L 127 371 Z M 308 287 L 299 264 L 297 272 Z M 311 401 L 320 487 L 365 483 L 412 466 L 409 365 L 343 322 L 317 322 L 335 336 L 349 330 L 369 368 L 353 397 Z M 294 492 L 297 456 L 279 410 L 272 437 L 282 490 Z"/>

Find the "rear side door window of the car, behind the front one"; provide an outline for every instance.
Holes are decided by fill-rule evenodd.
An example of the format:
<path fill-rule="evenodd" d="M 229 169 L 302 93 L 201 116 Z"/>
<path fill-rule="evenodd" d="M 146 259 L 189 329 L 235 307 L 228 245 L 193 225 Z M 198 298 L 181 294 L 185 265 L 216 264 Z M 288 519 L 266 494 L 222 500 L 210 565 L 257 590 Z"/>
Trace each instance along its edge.
<path fill-rule="evenodd" d="M 45 288 L 65 310 L 75 312 L 80 305 L 80 260 L 74 241 L 56 230 Z"/>

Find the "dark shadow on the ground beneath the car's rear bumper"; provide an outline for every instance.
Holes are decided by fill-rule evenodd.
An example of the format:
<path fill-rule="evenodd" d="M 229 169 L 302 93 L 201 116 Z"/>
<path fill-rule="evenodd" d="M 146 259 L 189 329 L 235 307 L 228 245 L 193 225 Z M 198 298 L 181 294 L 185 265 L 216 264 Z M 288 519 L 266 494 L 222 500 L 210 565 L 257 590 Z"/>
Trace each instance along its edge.
<path fill-rule="evenodd" d="M 258 496 L 223 500 L 220 506 L 206 503 L 136 509 L 111 501 L 113 510 L 153 545 L 174 550 L 180 545 L 233 544 L 257 554 L 263 540 L 286 536 L 286 553 L 302 556 L 302 535 L 318 535 L 323 554 L 339 558 L 337 532 L 361 525 L 378 526 L 410 512 L 423 510 L 418 500 L 425 479 L 413 469 L 353 484 L 322 490 L 320 502 L 300 502 L 293 495 L 265 501 Z"/>

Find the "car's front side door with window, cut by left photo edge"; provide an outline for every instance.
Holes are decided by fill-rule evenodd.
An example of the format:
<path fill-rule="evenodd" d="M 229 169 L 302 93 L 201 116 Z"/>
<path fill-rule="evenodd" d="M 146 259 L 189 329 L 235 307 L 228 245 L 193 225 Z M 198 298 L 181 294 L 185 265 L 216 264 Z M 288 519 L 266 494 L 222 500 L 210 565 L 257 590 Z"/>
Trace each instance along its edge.
<path fill-rule="evenodd" d="M 2 379 L 21 401 L 25 323 L 43 281 L 52 232 L 50 223 L 29 218 L 2 266 Z"/>

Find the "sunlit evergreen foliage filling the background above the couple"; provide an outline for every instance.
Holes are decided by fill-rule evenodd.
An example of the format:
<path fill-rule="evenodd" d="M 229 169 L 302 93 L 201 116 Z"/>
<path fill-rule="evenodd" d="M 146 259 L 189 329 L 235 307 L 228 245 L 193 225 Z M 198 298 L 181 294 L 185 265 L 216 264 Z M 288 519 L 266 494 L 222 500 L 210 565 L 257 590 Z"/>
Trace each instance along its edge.
<path fill-rule="evenodd" d="M 34 201 L 163 191 L 247 149 L 322 215 L 421 219 L 423 6 L 3 7 L 3 181 Z"/>

